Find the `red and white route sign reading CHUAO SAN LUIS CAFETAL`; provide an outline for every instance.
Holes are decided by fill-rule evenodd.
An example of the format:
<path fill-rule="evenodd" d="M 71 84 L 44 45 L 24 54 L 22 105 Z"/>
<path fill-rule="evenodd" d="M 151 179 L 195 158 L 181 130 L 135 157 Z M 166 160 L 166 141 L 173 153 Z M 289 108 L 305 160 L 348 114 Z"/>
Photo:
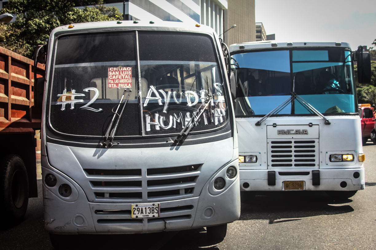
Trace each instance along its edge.
<path fill-rule="evenodd" d="M 108 88 L 132 88 L 132 67 L 109 67 Z"/>

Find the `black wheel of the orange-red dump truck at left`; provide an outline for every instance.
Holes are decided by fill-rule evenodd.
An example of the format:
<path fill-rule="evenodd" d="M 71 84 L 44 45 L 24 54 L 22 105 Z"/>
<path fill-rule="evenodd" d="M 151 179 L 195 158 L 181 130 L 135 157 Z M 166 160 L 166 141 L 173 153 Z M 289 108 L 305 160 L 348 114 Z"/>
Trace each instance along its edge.
<path fill-rule="evenodd" d="M 11 154 L 0 166 L 0 204 L 8 223 L 19 223 L 26 214 L 29 202 L 29 180 L 25 163 L 20 156 Z"/>

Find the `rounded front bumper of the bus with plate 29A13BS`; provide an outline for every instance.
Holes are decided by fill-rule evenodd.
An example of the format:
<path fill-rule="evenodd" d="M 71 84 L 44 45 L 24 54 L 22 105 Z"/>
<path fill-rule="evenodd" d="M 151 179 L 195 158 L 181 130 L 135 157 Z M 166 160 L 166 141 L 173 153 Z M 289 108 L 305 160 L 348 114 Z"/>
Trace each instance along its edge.
<path fill-rule="evenodd" d="M 226 169 L 225 169 L 226 171 Z M 72 186 L 69 199 L 46 186 L 44 178 L 53 174 Z M 199 197 L 158 202 L 168 208 L 158 218 L 132 219 L 130 203 L 89 202 L 83 189 L 67 175 L 42 167 L 45 229 L 52 234 L 139 234 L 177 231 L 220 225 L 240 216 L 239 175 L 218 195 L 205 184 Z"/>

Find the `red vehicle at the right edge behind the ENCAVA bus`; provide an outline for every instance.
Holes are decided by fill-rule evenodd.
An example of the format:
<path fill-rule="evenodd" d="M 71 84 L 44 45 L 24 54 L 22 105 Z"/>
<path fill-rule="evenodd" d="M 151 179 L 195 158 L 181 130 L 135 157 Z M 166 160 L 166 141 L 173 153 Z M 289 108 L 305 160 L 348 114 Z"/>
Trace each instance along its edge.
<path fill-rule="evenodd" d="M 369 103 L 359 104 L 359 116 L 361 118 L 361 128 L 362 128 L 362 142 L 363 145 L 366 144 L 368 139 L 371 139 L 373 143 L 374 133 L 375 133 L 375 115 L 374 108 L 371 107 Z M 373 132 L 373 137 L 371 138 L 371 132 Z M 376 143 L 375 143 L 376 144 Z"/>

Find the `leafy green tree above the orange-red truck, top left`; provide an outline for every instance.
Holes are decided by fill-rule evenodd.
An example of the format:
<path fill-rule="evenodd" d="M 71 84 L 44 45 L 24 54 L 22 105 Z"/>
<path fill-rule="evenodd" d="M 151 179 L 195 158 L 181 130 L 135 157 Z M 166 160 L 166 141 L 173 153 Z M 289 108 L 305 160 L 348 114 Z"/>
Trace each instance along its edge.
<path fill-rule="evenodd" d="M 9 0 L 0 11 L 17 15 L 15 22 L 0 25 L 0 45 L 31 58 L 38 45 L 61 25 L 79 22 L 120 20 L 117 7 L 106 7 L 103 0 Z M 76 6 L 93 5 L 77 9 Z"/>

